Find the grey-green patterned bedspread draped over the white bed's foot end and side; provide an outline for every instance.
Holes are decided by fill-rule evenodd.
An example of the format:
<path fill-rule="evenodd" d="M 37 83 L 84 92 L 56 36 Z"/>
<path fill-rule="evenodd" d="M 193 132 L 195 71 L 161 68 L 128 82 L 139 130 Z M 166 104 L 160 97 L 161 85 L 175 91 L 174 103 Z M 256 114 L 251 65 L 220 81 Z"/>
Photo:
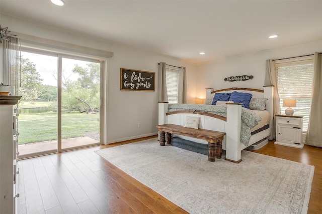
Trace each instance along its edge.
<path fill-rule="evenodd" d="M 184 110 L 196 110 L 216 114 L 222 117 L 227 117 L 226 106 L 203 104 L 169 104 L 168 107 L 169 112 Z M 248 146 L 248 143 L 252 137 L 252 128 L 254 128 L 261 120 L 262 119 L 257 114 L 257 111 L 241 107 L 240 142 L 243 143 L 245 146 Z"/>

